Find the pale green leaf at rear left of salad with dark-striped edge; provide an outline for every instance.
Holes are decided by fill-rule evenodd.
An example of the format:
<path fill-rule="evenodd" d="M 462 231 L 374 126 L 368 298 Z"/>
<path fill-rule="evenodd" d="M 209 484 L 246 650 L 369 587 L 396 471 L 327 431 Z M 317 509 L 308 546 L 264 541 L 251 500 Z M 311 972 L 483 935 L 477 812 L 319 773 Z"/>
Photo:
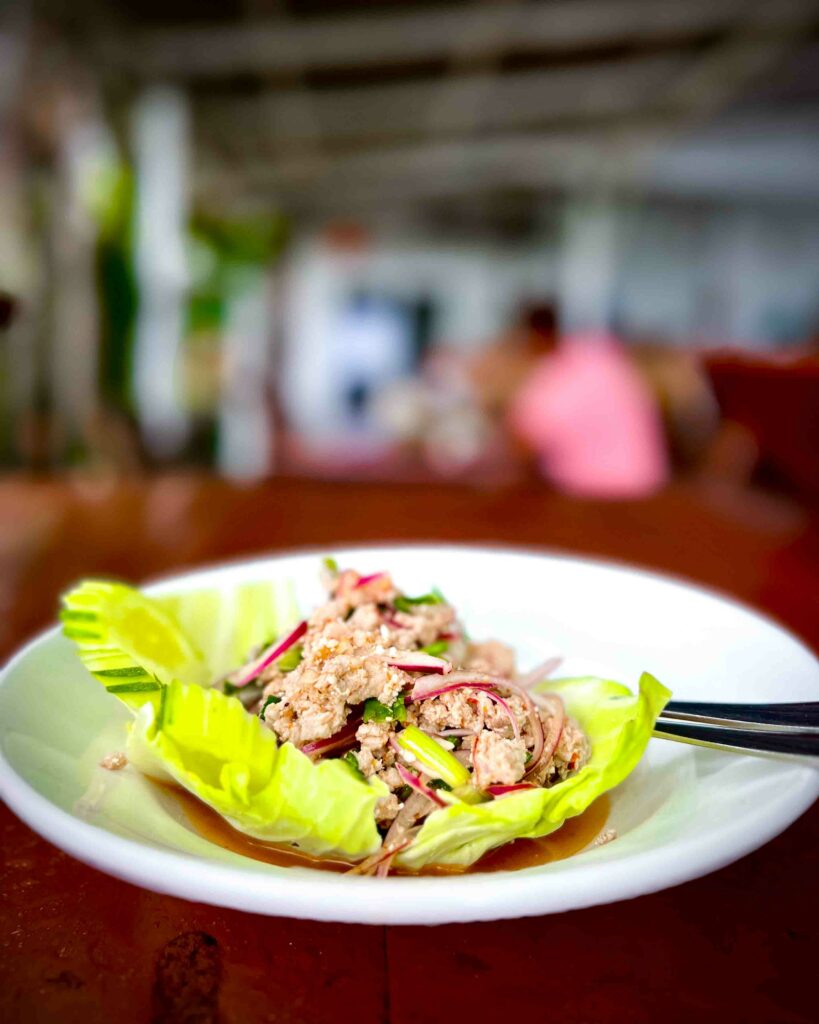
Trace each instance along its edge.
<path fill-rule="evenodd" d="M 148 597 L 84 580 L 62 598 L 62 632 L 85 667 L 132 710 L 178 679 L 210 685 L 297 618 L 293 589 L 254 582 Z"/>

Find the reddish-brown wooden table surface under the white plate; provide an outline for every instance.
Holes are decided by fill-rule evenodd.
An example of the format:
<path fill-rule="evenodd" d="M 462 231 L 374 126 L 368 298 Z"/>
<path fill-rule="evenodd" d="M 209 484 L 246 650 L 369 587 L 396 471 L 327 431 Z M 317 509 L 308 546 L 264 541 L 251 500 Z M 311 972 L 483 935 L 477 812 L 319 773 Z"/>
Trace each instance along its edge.
<path fill-rule="evenodd" d="M 819 526 L 782 499 L 689 484 L 593 504 L 530 485 L 238 487 L 178 476 L 0 482 L 0 649 L 46 625 L 84 573 L 141 581 L 299 545 L 393 539 L 515 543 L 670 570 L 819 646 Z M 764 849 L 665 892 L 435 929 L 188 903 L 86 867 L 5 808 L 0 828 L 4 1024 L 817 1019 L 816 807 Z"/>

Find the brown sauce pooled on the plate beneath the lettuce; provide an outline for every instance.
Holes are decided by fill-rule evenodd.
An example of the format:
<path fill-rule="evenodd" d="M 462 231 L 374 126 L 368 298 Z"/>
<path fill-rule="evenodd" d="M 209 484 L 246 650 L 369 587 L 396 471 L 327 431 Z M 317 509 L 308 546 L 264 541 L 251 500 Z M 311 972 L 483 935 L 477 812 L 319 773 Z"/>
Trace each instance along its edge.
<path fill-rule="evenodd" d="M 261 860 L 277 867 L 312 867 L 319 871 L 348 871 L 353 865 L 346 860 L 333 860 L 328 857 L 313 857 L 293 847 L 277 846 L 262 840 L 246 836 L 229 825 L 207 804 L 192 794 L 176 786 L 157 783 L 163 793 L 172 797 L 193 829 L 225 850 Z M 551 836 L 543 839 L 518 839 L 514 843 L 489 850 L 479 861 L 470 867 L 456 867 L 444 864 L 432 864 L 421 870 L 421 874 L 445 876 L 476 873 L 484 871 L 519 871 L 524 867 L 534 867 L 547 864 L 553 860 L 565 860 L 590 843 L 603 830 L 609 815 L 609 799 L 606 795 L 599 797 L 583 814 L 569 818 L 562 827 Z M 416 873 L 401 872 L 397 873 Z"/>

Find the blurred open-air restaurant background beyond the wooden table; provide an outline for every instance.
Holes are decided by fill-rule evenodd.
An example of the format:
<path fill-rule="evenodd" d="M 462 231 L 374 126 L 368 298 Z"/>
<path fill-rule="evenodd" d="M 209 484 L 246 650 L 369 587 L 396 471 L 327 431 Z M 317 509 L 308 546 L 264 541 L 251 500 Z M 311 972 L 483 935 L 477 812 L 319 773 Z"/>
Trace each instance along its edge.
<path fill-rule="evenodd" d="M 819 501 L 816 0 L 5 0 L 0 460 Z"/>

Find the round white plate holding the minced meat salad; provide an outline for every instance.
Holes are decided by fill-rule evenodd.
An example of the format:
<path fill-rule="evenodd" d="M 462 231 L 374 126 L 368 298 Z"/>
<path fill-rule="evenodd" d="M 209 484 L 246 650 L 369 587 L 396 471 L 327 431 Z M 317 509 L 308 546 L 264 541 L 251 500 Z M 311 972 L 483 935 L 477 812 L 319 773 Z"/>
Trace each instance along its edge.
<path fill-rule="evenodd" d="M 322 552 L 326 553 L 326 552 Z M 441 587 L 472 636 L 512 643 L 523 668 L 561 652 L 566 674 L 635 685 L 645 669 L 679 698 L 819 699 L 819 663 L 749 609 L 636 569 L 514 549 L 383 547 L 333 552 L 389 568 L 410 593 Z M 292 577 L 320 599 L 316 553 L 189 573 L 157 591 Z M 563 672 L 563 670 L 561 670 Z M 198 836 L 136 772 L 103 772 L 127 713 L 51 631 L 0 676 L 0 792 L 33 828 L 103 871 L 159 892 L 256 913 L 439 924 L 607 903 L 697 878 L 772 839 L 810 806 L 819 772 L 652 740 L 612 794 L 618 838 L 567 860 L 458 878 L 362 879 L 279 868 Z"/>

